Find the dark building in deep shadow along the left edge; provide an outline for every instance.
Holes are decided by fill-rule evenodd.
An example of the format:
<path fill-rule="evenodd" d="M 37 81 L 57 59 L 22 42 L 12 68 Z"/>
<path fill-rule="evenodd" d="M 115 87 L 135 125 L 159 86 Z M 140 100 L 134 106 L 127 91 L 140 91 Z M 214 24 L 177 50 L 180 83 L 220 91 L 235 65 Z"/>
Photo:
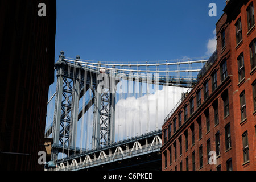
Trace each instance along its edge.
<path fill-rule="evenodd" d="M 39 17 L 39 3 L 46 16 Z M 43 170 L 49 85 L 54 81 L 56 1 L 0 1 L 0 170 Z"/>

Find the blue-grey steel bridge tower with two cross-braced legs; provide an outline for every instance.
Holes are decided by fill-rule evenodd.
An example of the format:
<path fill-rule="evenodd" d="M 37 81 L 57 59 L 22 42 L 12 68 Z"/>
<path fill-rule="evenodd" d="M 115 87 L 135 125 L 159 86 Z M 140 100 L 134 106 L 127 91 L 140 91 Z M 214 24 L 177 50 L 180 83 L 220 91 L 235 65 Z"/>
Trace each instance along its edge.
<path fill-rule="evenodd" d="M 80 56 L 76 56 L 75 61 L 79 59 Z M 114 71 L 102 76 L 100 69 L 90 69 L 77 62 L 65 61 L 64 51 L 60 52 L 55 69 L 57 83 L 51 160 L 55 161 L 61 151 L 67 155 L 76 152 L 77 122 L 92 105 L 94 105 L 92 148 L 112 144 L 115 126 L 115 92 L 112 90 L 117 84 Z M 102 80 L 105 81 L 105 85 L 110 85 L 110 89 L 106 86 L 104 88 L 101 84 Z M 79 100 L 88 89 L 92 90 L 93 96 L 79 109 Z"/>

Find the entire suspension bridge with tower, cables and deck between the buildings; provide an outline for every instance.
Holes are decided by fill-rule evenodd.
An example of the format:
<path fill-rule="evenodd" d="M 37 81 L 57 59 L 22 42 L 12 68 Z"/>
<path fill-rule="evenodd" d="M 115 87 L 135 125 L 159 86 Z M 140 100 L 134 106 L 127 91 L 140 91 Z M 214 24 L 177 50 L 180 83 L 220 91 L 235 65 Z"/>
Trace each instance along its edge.
<path fill-rule="evenodd" d="M 46 170 L 159 164 L 161 126 L 215 56 L 117 63 L 72 59 L 61 51 L 56 90 L 49 92 Z"/>

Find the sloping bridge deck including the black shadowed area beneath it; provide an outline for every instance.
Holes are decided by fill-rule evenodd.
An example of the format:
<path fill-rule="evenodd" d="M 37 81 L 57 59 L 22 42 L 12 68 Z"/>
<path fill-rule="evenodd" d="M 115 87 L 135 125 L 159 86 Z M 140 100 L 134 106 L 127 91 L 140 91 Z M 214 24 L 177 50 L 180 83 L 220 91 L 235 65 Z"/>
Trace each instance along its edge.
<path fill-rule="evenodd" d="M 78 170 L 122 170 L 161 169 L 161 130 L 152 131 L 138 137 L 122 140 L 106 147 L 84 151 L 79 149 L 68 158 L 57 160 L 56 171 Z M 52 146 L 62 148 L 61 146 Z"/>

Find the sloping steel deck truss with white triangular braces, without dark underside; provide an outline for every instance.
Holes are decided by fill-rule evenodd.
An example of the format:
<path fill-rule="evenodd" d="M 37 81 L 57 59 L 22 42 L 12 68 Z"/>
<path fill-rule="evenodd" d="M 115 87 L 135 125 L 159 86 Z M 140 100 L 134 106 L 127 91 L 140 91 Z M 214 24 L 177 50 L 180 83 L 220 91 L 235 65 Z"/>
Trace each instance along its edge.
<path fill-rule="evenodd" d="M 112 143 L 105 147 L 83 151 L 80 154 L 73 154 L 69 158 L 57 160 L 57 167 L 54 170 L 77 171 L 118 162 L 120 160 L 137 158 L 142 155 L 158 153 L 160 152 L 160 147 L 162 147 L 161 135 L 162 131 L 156 130 L 138 137 Z"/>

